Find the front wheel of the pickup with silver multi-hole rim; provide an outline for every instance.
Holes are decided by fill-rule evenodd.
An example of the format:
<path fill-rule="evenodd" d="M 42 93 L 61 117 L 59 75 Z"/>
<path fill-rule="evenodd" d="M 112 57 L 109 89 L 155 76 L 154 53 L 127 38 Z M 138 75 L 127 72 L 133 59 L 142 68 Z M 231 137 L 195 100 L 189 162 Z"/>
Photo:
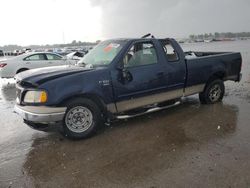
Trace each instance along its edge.
<path fill-rule="evenodd" d="M 83 139 L 96 133 L 102 114 L 96 103 L 86 98 L 70 100 L 63 118 L 63 133 L 71 139 Z"/>

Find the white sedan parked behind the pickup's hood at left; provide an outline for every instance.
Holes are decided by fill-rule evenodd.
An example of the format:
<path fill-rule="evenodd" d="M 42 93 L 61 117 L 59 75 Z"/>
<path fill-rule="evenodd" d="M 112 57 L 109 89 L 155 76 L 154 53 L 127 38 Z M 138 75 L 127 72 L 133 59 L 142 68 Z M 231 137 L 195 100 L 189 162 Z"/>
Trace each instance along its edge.
<path fill-rule="evenodd" d="M 17 73 L 50 66 L 72 65 L 76 61 L 51 52 L 25 53 L 10 59 L 0 60 L 0 77 L 13 78 Z"/>

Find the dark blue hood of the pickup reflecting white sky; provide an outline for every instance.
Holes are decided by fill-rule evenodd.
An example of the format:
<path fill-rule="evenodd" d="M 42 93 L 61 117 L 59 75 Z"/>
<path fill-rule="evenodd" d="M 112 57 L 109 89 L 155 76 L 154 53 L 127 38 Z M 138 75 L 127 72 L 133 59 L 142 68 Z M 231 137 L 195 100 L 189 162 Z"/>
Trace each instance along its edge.
<path fill-rule="evenodd" d="M 54 66 L 54 67 L 46 67 L 46 68 L 39 68 L 39 69 L 32 69 L 21 72 L 15 76 L 17 83 L 29 83 L 33 86 L 38 86 L 43 84 L 47 81 L 84 72 L 90 71 L 93 68 L 86 68 L 86 67 L 78 67 L 78 66 Z"/>

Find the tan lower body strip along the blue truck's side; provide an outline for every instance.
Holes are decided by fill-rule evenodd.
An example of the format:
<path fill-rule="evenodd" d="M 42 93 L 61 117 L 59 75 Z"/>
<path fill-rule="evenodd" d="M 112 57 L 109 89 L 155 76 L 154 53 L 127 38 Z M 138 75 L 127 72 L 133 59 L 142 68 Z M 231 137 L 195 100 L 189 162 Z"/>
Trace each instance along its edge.
<path fill-rule="evenodd" d="M 199 85 L 187 87 L 185 88 L 185 92 L 183 92 L 183 89 L 177 89 L 174 91 L 168 91 L 164 93 L 154 94 L 154 95 L 135 98 L 135 99 L 131 98 L 130 100 L 116 103 L 116 107 L 115 107 L 115 104 L 113 103 L 108 104 L 107 108 L 108 108 L 108 111 L 112 113 L 124 112 L 124 111 L 132 110 L 135 108 L 139 108 L 142 106 L 196 94 L 196 93 L 202 92 L 204 89 L 204 86 L 205 84 L 199 84 Z"/>

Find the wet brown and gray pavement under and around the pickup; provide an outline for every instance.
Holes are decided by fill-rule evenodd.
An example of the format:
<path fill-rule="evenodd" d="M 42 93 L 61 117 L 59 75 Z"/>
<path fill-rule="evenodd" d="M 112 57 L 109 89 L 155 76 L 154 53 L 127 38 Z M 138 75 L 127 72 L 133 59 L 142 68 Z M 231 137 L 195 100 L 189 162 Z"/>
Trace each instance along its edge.
<path fill-rule="evenodd" d="M 222 103 L 195 95 L 86 140 L 27 127 L 14 81 L 1 80 L 0 187 L 250 187 L 250 41 L 184 48 L 241 51 L 243 80 L 226 83 Z"/>

